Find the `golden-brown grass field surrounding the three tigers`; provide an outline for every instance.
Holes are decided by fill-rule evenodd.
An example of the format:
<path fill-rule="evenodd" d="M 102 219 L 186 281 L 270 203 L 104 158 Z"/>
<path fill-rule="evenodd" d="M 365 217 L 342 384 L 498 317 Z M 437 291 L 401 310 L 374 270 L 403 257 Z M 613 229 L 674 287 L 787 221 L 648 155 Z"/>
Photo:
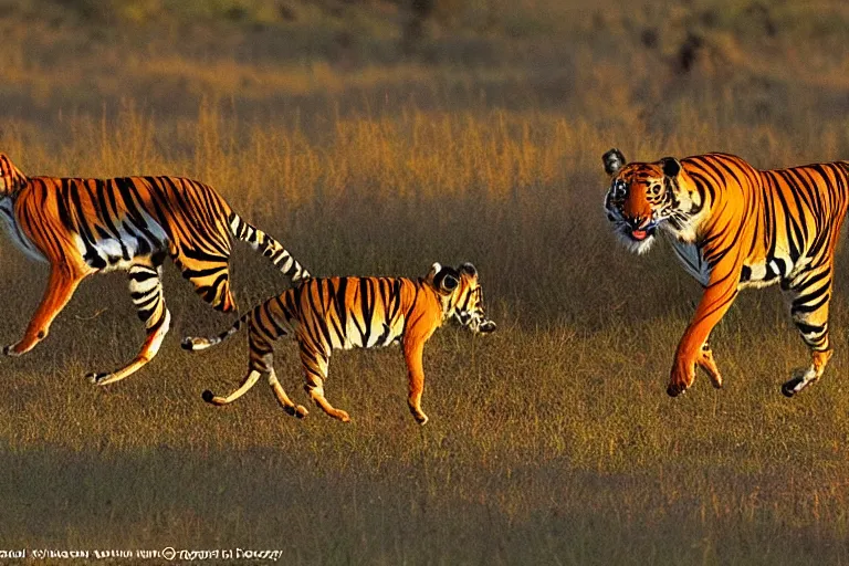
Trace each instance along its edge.
<path fill-rule="evenodd" d="M 85 282 L 49 338 L 0 360 L 0 549 L 279 548 L 295 563 L 849 563 L 849 256 L 835 357 L 807 361 L 775 289 L 745 292 L 705 376 L 670 399 L 698 284 L 667 245 L 616 244 L 601 154 L 709 150 L 759 167 L 849 158 L 841 2 L 438 2 L 408 44 L 392 2 L 17 3 L 0 19 L 0 149 L 30 174 L 187 175 L 313 273 L 472 261 L 496 334 L 439 331 L 423 408 L 397 349 L 334 356 L 328 399 L 284 415 L 243 376 L 231 317 L 172 266 L 172 331 L 130 378 L 126 276 Z M 467 6 L 468 4 L 468 6 Z M 201 9 L 207 6 L 206 9 Z M 192 8 L 193 7 L 193 8 Z M 209 8 L 212 7 L 212 8 Z M 190 25 L 188 22 L 192 22 Z M 0 343 L 46 266 L 0 249 Z M 243 245 L 242 308 L 287 282 Z M 277 373 L 298 402 L 296 349 Z"/>

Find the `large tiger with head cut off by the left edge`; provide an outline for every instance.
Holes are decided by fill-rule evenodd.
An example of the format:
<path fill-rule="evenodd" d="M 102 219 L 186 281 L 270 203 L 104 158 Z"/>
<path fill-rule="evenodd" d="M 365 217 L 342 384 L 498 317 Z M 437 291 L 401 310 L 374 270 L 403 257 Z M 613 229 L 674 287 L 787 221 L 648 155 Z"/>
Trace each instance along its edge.
<path fill-rule="evenodd" d="M 25 255 L 50 264 L 43 298 L 23 337 L 3 347 L 7 356 L 25 354 L 43 340 L 85 277 L 128 272 L 146 339 L 124 367 L 87 374 L 96 385 L 124 379 L 159 350 L 171 321 L 161 283 L 168 255 L 200 297 L 226 313 L 235 308 L 228 265 L 234 238 L 293 282 L 310 276 L 280 242 L 243 220 L 212 187 L 182 177 L 27 177 L 0 154 L 0 223 Z"/>

